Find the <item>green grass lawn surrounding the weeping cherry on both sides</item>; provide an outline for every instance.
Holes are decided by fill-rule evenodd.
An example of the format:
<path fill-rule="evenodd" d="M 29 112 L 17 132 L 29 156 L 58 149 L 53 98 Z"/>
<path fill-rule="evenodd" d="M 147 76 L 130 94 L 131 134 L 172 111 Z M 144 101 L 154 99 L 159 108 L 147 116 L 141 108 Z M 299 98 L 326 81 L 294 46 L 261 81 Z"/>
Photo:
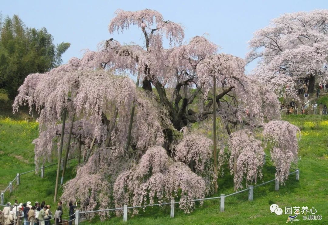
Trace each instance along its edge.
<path fill-rule="evenodd" d="M 314 207 L 322 220 L 304 221 L 302 215 L 294 221 L 295 224 L 328 224 L 328 117 L 320 115 L 291 115 L 284 117 L 301 129 L 299 142 L 299 162 L 294 165 L 300 169 L 299 181 L 295 174 L 290 175 L 285 185 L 280 185 L 275 191 L 274 182 L 254 189 L 254 200 L 248 201 L 248 192 L 229 196 L 225 199 L 225 211 L 220 212 L 220 200 L 207 200 L 203 206 L 189 215 L 178 210 L 176 205 L 174 218 L 170 218 L 170 206 L 150 207 L 140 211 L 139 215 L 128 216 L 128 222 L 123 223 L 122 216 L 112 217 L 100 222 L 97 218 L 85 224 L 284 224 L 288 215 L 271 213 L 271 204 L 285 207 Z M 31 125 L 31 124 L 30 124 Z M 33 126 L 30 126 L 33 127 Z M 24 131 L 30 135 L 24 136 Z M 0 187 L 8 185 L 17 172 L 34 169 L 34 152 L 31 140 L 38 132 L 29 125 L 7 124 L 0 120 Z M 20 156 L 20 157 L 17 157 Z M 269 162 L 270 163 L 270 162 Z M 275 168 L 267 163 L 263 170 L 263 181 L 274 178 Z M 74 164 L 74 163 L 72 163 Z M 9 196 L 6 192 L 5 201 L 19 202 L 42 201 L 53 202 L 56 166 L 46 169 L 45 178 L 33 173 L 21 176 L 21 184 L 14 187 Z M 70 167 L 65 180 L 74 176 Z M 262 181 L 258 181 L 258 184 Z M 232 176 L 225 172 L 225 177 L 219 178 L 219 194 L 233 193 Z M 60 190 L 61 192 L 61 190 Z M 53 207 L 52 207 L 53 208 Z M 64 213 L 67 213 L 67 209 Z"/>

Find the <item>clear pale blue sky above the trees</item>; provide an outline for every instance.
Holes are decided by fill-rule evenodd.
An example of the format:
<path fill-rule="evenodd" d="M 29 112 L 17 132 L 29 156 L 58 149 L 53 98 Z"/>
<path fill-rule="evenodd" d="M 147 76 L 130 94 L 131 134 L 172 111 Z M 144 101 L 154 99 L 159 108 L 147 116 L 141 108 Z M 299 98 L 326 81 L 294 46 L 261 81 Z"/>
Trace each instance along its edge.
<path fill-rule="evenodd" d="M 3 15 L 19 15 L 29 27 L 46 27 L 55 43 L 70 42 L 70 49 L 63 55 L 66 63 L 71 57 L 81 57 L 84 49 L 96 50 L 97 44 L 113 37 L 121 43 L 143 44 L 141 32 L 131 29 L 123 34 L 111 35 L 108 24 L 117 9 L 153 9 L 162 13 L 165 20 L 181 23 L 185 27 L 185 41 L 196 35 L 206 36 L 222 47 L 220 51 L 244 58 L 247 41 L 252 33 L 269 24 L 280 14 L 297 11 L 325 9 L 324 0 L 275 0 L 275 1 L 19 1 L 1 0 Z M 246 67 L 250 72 L 256 63 Z"/>

